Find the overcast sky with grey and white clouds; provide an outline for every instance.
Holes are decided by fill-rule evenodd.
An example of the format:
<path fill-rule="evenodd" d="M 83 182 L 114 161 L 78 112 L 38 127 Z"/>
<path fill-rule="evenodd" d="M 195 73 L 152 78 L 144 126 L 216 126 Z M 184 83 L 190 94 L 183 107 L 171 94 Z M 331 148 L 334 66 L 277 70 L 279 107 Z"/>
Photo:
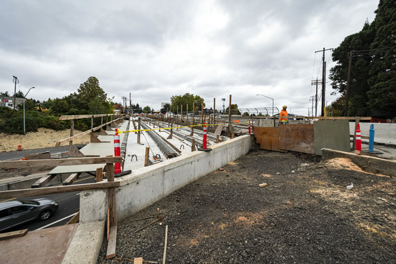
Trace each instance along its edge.
<path fill-rule="evenodd" d="M 1 0 L 0 91 L 40 101 L 88 77 L 122 102 L 159 110 L 190 92 L 206 107 L 288 106 L 307 115 L 323 48 L 371 23 L 375 0 Z M 327 69 L 334 66 L 325 53 Z M 329 73 L 327 73 L 329 76 Z M 327 79 L 326 101 L 333 101 Z M 319 104 L 320 105 L 320 104 Z M 318 110 L 320 113 L 320 110 Z M 263 110 L 265 113 L 265 110 Z M 271 113 L 270 113 L 271 114 Z"/>

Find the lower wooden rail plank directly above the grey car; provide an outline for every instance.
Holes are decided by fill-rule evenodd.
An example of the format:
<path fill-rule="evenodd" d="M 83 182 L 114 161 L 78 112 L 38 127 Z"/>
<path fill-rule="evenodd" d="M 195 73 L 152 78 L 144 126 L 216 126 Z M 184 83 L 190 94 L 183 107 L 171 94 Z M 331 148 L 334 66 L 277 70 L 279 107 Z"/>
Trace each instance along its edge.
<path fill-rule="evenodd" d="M 3 192 L 0 192 L 0 199 L 11 199 L 14 197 L 29 197 L 38 195 L 41 196 L 64 192 L 81 192 L 83 190 L 101 190 L 104 188 L 117 188 L 119 187 L 119 185 L 119 181 L 113 181 L 107 183 L 86 183 L 78 185 L 53 186 L 24 190 L 4 190 Z"/>

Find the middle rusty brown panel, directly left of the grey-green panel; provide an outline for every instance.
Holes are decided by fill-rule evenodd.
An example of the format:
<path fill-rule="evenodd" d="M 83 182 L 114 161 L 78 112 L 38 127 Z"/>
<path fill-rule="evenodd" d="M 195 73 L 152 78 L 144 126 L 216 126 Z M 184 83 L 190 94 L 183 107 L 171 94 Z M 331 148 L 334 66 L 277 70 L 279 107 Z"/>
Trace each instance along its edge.
<path fill-rule="evenodd" d="M 287 124 L 279 127 L 279 148 L 313 154 L 313 124 Z"/>

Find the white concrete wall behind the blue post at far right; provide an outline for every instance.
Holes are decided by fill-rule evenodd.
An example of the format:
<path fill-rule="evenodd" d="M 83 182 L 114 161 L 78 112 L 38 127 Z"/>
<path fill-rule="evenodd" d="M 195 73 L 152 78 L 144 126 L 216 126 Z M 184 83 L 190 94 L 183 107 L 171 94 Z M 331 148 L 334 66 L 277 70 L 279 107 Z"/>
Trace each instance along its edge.
<path fill-rule="evenodd" d="M 361 135 L 368 137 L 370 134 L 370 125 L 374 124 L 374 142 L 382 144 L 396 145 L 396 124 L 386 123 L 366 123 L 360 122 Z M 349 133 L 354 135 L 355 133 L 355 122 L 349 122 Z M 368 140 L 363 140 L 368 142 Z"/>

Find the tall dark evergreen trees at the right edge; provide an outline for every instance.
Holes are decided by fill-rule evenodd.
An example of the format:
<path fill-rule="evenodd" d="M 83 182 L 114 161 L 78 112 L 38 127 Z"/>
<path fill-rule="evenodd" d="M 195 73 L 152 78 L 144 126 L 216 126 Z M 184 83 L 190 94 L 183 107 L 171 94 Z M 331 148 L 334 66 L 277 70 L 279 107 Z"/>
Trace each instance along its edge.
<path fill-rule="evenodd" d="M 396 5 L 380 0 L 372 24 L 345 40 L 333 51 L 331 85 L 345 98 L 349 52 L 353 51 L 349 81 L 349 116 L 396 115 Z M 336 103 L 340 110 L 341 101 Z M 345 106 L 345 99 L 344 99 Z"/>

